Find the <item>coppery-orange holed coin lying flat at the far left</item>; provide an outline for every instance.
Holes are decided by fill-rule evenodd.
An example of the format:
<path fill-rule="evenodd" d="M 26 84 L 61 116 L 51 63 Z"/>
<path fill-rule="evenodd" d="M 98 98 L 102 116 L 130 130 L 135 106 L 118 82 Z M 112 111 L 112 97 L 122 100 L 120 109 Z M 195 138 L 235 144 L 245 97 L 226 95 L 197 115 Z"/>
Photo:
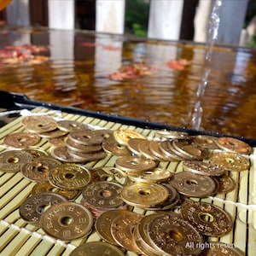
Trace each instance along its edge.
<path fill-rule="evenodd" d="M 3 143 L 13 148 L 26 148 L 40 142 L 38 134 L 30 132 L 15 132 L 4 137 Z"/>

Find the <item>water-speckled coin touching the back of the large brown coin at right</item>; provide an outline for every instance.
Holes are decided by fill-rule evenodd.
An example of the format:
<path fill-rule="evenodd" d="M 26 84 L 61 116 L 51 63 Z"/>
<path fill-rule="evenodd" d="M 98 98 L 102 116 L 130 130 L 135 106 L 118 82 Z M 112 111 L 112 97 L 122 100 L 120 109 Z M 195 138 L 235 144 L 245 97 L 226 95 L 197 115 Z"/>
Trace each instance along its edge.
<path fill-rule="evenodd" d="M 225 172 L 225 170 L 220 166 L 216 166 L 211 162 L 204 162 L 201 160 L 183 161 L 183 170 L 207 176 L 220 176 Z"/>

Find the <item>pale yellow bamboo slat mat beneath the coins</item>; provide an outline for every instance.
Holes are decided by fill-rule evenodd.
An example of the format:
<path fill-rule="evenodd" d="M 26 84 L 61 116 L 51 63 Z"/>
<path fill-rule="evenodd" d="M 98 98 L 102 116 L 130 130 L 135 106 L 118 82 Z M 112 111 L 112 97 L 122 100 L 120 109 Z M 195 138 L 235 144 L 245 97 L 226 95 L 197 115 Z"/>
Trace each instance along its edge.
<path fill-rule="evenodd" d="M 32 113 L 53 113 L 47 108 L 35 108 Z M 56 112 L 57 113 L 57 112 Z M 95 129 L 129 129 L 137 131 L 144 136 L 154 138 L 155 131 L 138 128 L 132 125 L 122 125 L 120 123 L 108 122 L 102 119 L 96 119 L 81 116 L 73 113 L 60 113 L 59 118 L 70 119 L 88 124 Z M 3 144 L 3 138 L 13 132 L 24 131 L 19 117 L 3 126 L 0 129 L 0 152 L 7 148 Z M 36 147 L 49 152 L 51 145 L 46 138 L 42 138 Z M 12 148 L 13 149 L 13 148 Z M 255 255 L 256 250 L 256 164 L 255 152 L 250 155 L 250 170 L 243 172 L 230 172 L 230 177 L 236 181 L 236 189 L 227 194 L 218 194 L 210 196 L 201 201 L 207 201 L 218 207 L 222 207 L 229 212 L 234 219 L 234 229 L 227 236 L 221 238 L 210 238 L 210 241 L 222 241 L 234 247 L 238 247 L 246 255 Z M 85 164 L 88 167 L 114 166 L 116 156 L 108 154 L 104 159 L 91 161 Z M 160 162 L 159 167 L 166 168 L 170 172 L 182 172 L 181 162 Z M 75 241 L 64 242 L 55 240 L 45 235 L 44 231 L 37 226 L 27 224 L 20 218 L 20 202 L 24 201 L 30 195 L 32 187 L 36 183 L 26 180 L 20 172 L 5 173 L 0 172 L 0 255 L 15 256 L 42 256 L 42 255 L 69 255 L 75 247 L 78 247 L 87 241 L 101 241 L 101 238 L 94 230 L 90 236 Z M 79 202 L 81 195 L 75 201 Z M 199 200 L 199 199 L 194 199 Z M 143 209 L 134 207 L 134 212 L 149 214 Z M 136 253 L 126 252 L 125 255 L 135 256 Z"/>

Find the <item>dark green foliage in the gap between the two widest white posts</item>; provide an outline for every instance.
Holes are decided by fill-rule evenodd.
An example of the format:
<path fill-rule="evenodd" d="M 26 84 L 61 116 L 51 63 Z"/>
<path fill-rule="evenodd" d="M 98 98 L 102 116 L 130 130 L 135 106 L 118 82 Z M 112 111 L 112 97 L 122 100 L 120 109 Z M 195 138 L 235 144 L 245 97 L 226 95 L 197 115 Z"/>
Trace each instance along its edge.
<path fill-rule="evenodd" d="M 149 1 L 127 0 L 125 5 L 125 32 L 145 37 L 148 32 Z"/>

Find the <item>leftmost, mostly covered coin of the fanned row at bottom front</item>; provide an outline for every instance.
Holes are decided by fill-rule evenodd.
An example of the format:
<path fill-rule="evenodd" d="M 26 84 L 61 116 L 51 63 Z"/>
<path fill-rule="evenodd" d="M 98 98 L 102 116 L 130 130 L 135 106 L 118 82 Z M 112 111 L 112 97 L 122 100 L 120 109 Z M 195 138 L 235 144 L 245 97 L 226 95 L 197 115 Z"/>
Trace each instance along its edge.
<path fill-rule="evenodd" d="M 97 234 L 104 240 L 108 241 L 113 245 L 118 245 L 118 243 L 113 239 L 111 234 L 111 225 L 114 218 L 125 214 L 126 210 L 109 210 L 106 212 L 102 212 L 102 214 L 96 218 L 95 228 Z"/>

